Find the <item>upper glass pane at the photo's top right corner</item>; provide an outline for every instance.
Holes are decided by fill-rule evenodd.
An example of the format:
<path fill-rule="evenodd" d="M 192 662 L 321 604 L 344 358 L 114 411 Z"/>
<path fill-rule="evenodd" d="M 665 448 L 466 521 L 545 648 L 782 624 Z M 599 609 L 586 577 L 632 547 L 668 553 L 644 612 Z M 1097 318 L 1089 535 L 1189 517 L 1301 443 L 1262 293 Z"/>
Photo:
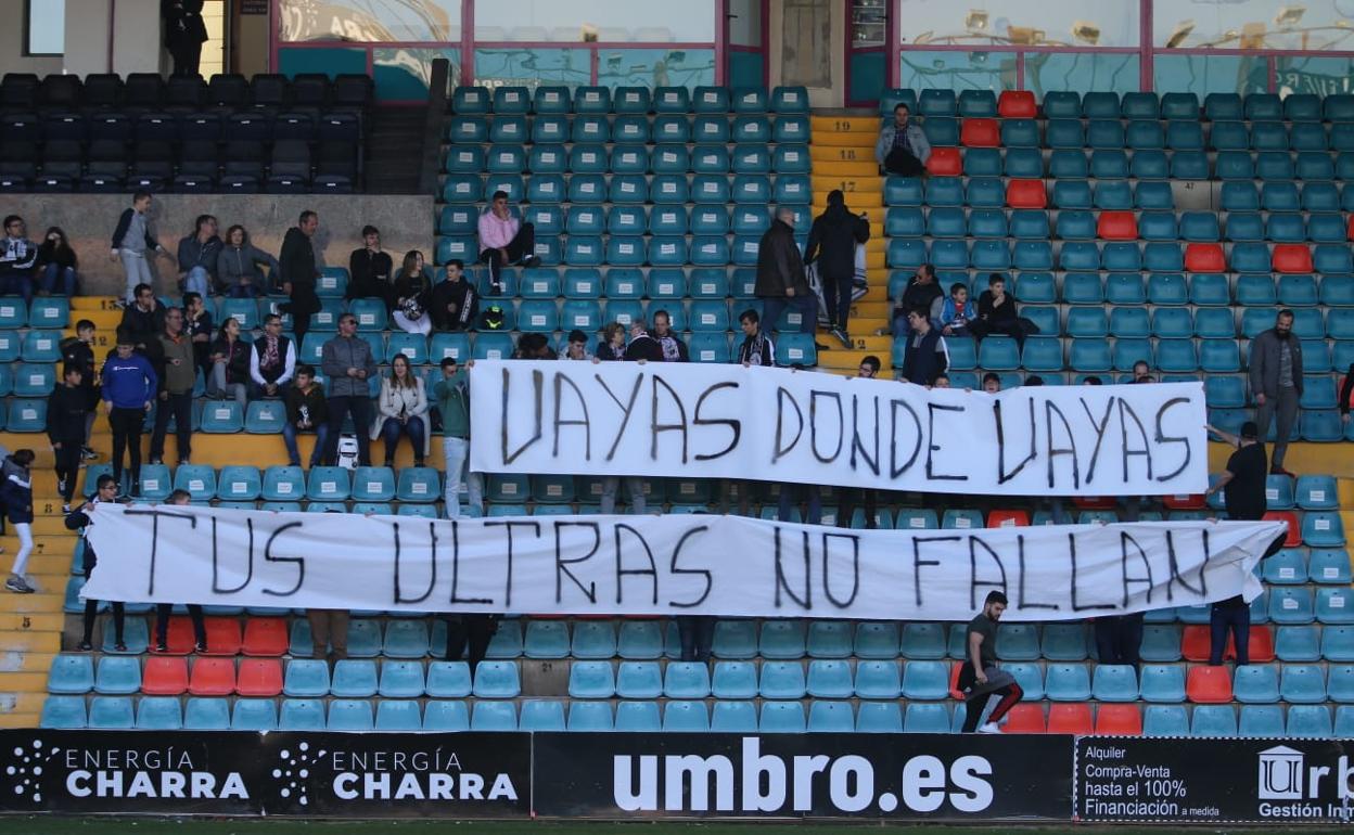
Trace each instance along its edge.
<path fill-rule="evenodd" d="M 1158 0 L 1158 49 L 1354 50 L 1354 4 L 1347 0 Z"/>

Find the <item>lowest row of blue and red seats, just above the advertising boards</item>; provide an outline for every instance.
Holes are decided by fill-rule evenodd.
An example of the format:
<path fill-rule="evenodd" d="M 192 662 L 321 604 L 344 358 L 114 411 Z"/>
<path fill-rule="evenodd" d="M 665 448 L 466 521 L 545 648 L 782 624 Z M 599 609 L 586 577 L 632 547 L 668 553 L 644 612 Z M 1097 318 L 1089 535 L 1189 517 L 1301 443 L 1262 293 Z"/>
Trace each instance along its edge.
<path fill-rule="evenodd" d="M 566 719 L 567 706 L 567 719 Z M 1240 721 L 1238 721 L 1240 713 Z M 1335 709 L 1335 723 L 1326 705 L 1147 705 L 1136 704 L 1020 704 L 1009 715 L 1007 734 L 1080 734 L 1129 736 L 1294 736 L 1331 738 L 1354 734 L 1354 706 Z M 519 717 L 513 701 L 477 701 L 474 715 L 464 701 L 429 700 L 283 700 L 190 698 L 187 706 L 173 697 L 142 697 L 135 706 L 129 697 L 103 696 L 91 701 L 88 716 L 81 697 L 51 697 L 43 708 L 42 727 L 108 729 L 192 731 L 631 731 L 631 732 L 726 732 L 726 734 L 957 734 L 964 712 L 951 712 L 944 702 L 814 700 L 804 706 L 791 701 L 765 701 L 758 710 L 751 701 L 670 700 L 608 701 L 523 700 Z"/>

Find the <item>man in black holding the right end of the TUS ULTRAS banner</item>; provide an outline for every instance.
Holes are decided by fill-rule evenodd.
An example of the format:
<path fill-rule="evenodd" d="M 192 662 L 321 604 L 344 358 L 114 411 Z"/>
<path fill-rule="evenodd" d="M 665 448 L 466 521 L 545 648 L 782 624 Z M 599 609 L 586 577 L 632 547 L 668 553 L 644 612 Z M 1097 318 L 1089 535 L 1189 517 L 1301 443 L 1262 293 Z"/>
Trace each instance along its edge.
<path fill-rule="evenodd" d="M 1242 424 L 1240 434 L 1223 432 L 1216 426 L 1208 430 L 1223 438 L 1223 443 L 1236 447 L 1236 452 L 1227 459 L 1227 470 L 1217 482 L 1208 489 L 1205 495 L 1223 491 L 1223 505 L 1227 507 L 1227 518 L 1239 521 L 1255 521 L 1265 517 L 1265 444 L 1261 443 L 1259 426 L 1252 421 Z M 1227 633 L 1231 631 L 1232 641 L 1236 644 L 1236 663 L 1247 664 L 1251 660 L 1251 608 L 1240 595 L 1216 601 L 1209 613 L 1209 651 L 1208 663 L 1219 666 L 1223 663 L 1223 652 L 1227 650 Z"/>

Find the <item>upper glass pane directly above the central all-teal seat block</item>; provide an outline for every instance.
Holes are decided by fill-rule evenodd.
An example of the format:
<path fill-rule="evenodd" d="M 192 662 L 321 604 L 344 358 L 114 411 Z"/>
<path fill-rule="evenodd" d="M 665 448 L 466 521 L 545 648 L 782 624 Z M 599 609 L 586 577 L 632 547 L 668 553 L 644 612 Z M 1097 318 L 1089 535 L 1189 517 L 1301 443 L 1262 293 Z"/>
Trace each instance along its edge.
<path fill-rule="evenodd" d="M 714 43 L 715 0 L 475 0 L 475 41 Z"/>

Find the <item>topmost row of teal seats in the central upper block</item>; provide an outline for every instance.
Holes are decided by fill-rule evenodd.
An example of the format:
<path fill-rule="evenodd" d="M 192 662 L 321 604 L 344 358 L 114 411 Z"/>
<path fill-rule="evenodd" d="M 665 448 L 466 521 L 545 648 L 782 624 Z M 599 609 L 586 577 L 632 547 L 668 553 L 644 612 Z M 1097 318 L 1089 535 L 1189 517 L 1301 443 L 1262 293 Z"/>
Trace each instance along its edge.
<path fill-rule="evenodd" d="M 448 101 L 454 114 L 807 114 L 808 91 L 777 87 L 458 87 Z"/>

